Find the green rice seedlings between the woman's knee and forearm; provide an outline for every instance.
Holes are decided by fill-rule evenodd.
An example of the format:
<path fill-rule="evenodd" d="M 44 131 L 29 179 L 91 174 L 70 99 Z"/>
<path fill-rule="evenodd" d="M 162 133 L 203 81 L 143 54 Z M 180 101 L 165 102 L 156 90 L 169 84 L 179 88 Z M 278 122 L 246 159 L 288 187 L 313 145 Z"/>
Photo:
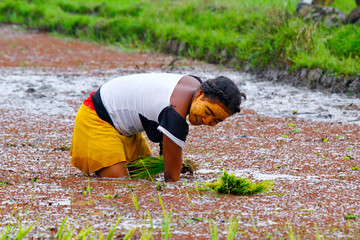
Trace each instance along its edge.
<path fill-rule="evenodd" d="M 131 178 L 152 178 L 164 172 L 164 157 L 143 156 L 139 160 L 127 164 Z"/>

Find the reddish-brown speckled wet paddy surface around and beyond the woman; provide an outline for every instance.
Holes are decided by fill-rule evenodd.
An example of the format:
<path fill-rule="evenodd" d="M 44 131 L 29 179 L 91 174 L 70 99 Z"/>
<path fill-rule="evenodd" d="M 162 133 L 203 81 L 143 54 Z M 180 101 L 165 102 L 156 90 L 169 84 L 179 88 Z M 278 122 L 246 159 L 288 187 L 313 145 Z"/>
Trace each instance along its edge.
<path fill-rule="evenodd" d="M 210 68 L 168 55 L 125 53 L 0 28 L 0 69 L 6 74 L 116 76 L 194 66 Z M 0 232 L 21 218 L 24 225 L 35 223 L 30 237 L 55 237 L 67 216 L 75 230 L 90 224 L 93 232 L 106 234 L 121 217 L 118 239 L 135 227 L 133 239 L 139 238 L 151 224 L 160 239 L 160 195 L 165 211 L 172 212 L 172 239 L 210 239 L 213 225 L 219 239 L 226 239 L 235 215 L 240 217 L 237 239 L 289 239 L 291 232 L 301 239 L 360 238 L 359 125 L 272 118 L 243 109 L 214 128 L 191 126 L 184 157 L 196 161 L 200 170 L 196 177 L 184 174 L 180 182 L 158 190 L 148 180 L 100 179 L 69 164 L 73 122 L 84 95 L 77 101 L 64 99 L 71 114 L 40 114 L 1 103 Z M 196 190 L 223 170 L 254 181 L 273 180 L 274 188 L 254 196 Z"/>

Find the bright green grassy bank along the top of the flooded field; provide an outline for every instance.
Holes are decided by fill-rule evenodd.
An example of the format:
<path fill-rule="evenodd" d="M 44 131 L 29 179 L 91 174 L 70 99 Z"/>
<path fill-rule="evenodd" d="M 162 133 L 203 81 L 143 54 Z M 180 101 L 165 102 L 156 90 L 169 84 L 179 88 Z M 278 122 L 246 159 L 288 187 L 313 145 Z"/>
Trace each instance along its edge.
<path fill-rule="evenodd" d="M 2 0 L 0 22 L 253 70 L 360 72 L 360 28 L 294 16 L 298 0 Z M 335 0 L 348 14 L 355 1 Z"/>

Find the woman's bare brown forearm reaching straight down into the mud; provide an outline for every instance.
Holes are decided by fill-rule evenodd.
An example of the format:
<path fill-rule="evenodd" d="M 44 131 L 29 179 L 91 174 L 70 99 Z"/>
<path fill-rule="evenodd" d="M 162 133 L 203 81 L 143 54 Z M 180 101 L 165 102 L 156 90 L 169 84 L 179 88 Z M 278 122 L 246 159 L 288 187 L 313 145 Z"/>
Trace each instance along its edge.
<path fill-rule="evenodd" d="M 180 180 L 182 166 L 182 148 L 174 143 L 166 135 L 163 136 L 163 151 L 166 182 L 176 182 Z"/>

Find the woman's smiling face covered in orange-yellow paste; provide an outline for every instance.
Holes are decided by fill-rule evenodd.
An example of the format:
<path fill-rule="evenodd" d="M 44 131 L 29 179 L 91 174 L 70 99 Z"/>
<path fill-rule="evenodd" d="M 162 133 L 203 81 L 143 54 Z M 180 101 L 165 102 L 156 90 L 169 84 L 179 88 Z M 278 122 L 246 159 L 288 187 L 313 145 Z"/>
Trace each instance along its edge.
<path fill-rule="evenodd" d="M 229 116 L 229 112 L 221 103 L 205 97 L 200 90 L 191 103 L 189 121 L 192 125 L 215 126 Z"/>

